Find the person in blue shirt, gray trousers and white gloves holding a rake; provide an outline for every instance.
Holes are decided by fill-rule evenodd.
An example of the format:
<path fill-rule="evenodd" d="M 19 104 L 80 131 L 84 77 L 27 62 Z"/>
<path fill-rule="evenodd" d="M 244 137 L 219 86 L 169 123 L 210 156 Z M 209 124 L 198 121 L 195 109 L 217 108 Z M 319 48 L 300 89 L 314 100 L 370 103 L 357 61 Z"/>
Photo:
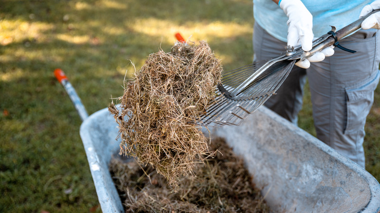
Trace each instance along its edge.
<path fill-rule="evenodd" d="M 338 30 L 380 9 L 380 0 L 253 0 L 254 60 L 277 57 L 284 47 L 312 49 L 314 38 Z M 306 77 L 317 138 L 365 168 L 364 124 L 379 78 L 380 13 L 366 18 L 361 30 L 341 39 L 349 53 L 327 47 L 296 63 L 277 94 L 265 106 L 297 124 Z M 310 63 L 311 62 L 311 63 Z"/>

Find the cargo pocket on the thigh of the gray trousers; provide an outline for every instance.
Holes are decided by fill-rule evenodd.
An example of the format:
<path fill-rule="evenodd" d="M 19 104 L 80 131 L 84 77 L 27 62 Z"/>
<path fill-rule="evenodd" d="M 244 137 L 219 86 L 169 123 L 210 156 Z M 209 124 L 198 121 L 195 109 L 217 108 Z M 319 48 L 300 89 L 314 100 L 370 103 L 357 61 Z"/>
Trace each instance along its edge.
<path fill-rule="evenodd" d="M 373 104 L 374 91 L 378 85 L 380 71 L 354 87 L 346 88 L 346 125 L 344 134 L 362 130 Z"/>

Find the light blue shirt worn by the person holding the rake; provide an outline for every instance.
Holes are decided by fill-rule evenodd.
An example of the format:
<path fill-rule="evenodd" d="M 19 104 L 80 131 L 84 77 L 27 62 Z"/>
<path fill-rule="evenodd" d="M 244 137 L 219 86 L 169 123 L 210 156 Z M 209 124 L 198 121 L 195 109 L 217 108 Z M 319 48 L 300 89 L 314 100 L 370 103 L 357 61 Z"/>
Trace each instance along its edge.
<path fill-rule="evenodd" d="M 320 37 L 335 26 L 337 30 L 359 19 L 361 9 L 373 0 L 302 0 L 313 15 L 314 37 Z M 255 21 L 273 37 L 286 42 L 287 25 L 284 11 L 272 0 L 253 0 Z"/>

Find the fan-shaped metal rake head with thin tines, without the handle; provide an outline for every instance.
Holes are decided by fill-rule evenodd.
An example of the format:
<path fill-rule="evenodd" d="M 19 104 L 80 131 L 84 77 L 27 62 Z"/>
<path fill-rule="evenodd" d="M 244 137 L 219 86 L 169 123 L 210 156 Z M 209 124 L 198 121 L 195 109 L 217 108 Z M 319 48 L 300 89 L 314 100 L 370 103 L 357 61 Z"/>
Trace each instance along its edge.
<path fill-rule="evenodd" d="M 215 99 L 197 124 L 239 125 L 281 86 L 295 60 L 268 59 L 223 74 Z"/>

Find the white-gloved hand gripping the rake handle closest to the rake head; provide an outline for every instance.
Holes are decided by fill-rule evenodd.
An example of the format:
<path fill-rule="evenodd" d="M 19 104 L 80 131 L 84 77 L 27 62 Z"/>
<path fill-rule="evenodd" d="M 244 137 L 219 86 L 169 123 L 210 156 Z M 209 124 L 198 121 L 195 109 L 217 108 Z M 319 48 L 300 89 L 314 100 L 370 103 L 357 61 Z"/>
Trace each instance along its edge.
<path fill-rule="evenodd" d="M 301 0 L 280 0 L 279 6 L 284 10 L 289 18 L 286 22 L 287 28 L 287 45 L 296 47 L 301 43 L 304 51 L 310 51 L 313 44 L 313 16 L 304 6 Z M 310 62 L 322 61 L 325 56 L 334 54 L 333 47 L 327 47 L 324 50 L 313 54 L 295 65 L 307 69 Z"/>

